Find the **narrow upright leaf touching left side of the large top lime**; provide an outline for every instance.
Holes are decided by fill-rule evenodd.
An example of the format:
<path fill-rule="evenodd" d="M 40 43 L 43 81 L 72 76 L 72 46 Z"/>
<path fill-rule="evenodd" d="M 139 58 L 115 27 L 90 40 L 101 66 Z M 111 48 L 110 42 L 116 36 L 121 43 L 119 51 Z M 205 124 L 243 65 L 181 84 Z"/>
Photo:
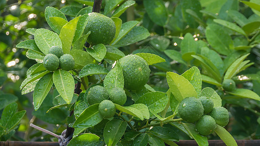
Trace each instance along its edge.
<path fill-rule="evenodd" d="M 88 23 L 88 14 L 85 14 L 85 15 L 82 15 L 82 16 L 79 17 L 77 27 L 76 27 L 76 30 L 75 30 L 75 35 L 74 35 L 73 40 L 72 40 L 73 47 L 74 47 L 74 45 L 80 45 L 80 50 L 82 49 L 84 44 L 83 44 L 83 42 L 80 42 L 80 44 L 77 44 L 76 41 L 79 40 L 81 37 L 83 37 L 82 34 L 84 32 L 84 29 L 85 29 L 87 23 Z M 90 33 L 90 32 L 88 32 L 88 33 Z M 83 37 L 83 38 L 85 38 L 85 37 Z M 81 38 L 81 41 L 83 41 L 82 40 L 83 38 Z"/>

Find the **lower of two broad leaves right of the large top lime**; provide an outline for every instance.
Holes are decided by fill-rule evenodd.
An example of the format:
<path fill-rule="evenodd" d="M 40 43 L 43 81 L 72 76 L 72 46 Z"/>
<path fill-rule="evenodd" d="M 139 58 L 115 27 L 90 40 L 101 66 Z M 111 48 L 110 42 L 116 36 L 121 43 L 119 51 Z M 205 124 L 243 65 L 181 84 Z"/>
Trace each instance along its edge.
<path fill-rule="evenodd" d="M 142 26 L 136 26 L 134 27 L 126 36 L 120 39 L 115 46 L 121 47 L 121 46 L 127 46 L 130 44 L 133 44 L 135 42 L 138 42 L 140 40 L 143 40 L 150 36 L 150 33 L 148 30 Z M 115 41 L 116 42 L 116 41 Z"/>

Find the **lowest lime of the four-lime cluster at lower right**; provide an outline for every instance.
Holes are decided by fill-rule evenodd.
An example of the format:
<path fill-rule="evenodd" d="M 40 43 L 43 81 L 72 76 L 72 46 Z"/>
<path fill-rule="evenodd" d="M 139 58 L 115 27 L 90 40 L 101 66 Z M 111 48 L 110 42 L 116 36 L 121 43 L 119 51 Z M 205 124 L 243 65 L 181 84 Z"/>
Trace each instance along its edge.
<path fill-rule="evenodd" d="M 215 120 L 209 115 L 203 115 L 196 123 L 196 129 L 201 135 L 209 135 L 217 128 Z"/>

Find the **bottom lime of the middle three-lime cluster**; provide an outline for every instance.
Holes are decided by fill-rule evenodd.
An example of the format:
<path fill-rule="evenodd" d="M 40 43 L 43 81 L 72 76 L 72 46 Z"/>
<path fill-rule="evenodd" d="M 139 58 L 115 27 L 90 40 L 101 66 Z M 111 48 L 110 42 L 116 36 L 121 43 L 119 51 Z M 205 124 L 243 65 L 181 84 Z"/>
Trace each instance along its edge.
<path fill-rule="evenodd" d="M 116 113 L 116 106 L 110 100 L 103 100 L 100 102 L 99 112 L 104 119 L 112 118 Z"/>

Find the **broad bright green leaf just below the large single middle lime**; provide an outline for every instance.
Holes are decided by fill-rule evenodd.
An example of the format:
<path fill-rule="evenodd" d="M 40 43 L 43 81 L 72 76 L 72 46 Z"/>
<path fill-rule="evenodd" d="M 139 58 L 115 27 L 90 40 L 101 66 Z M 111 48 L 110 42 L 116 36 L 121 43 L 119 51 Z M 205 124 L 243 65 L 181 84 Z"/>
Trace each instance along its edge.
<path fill-rule="evenodd" d="M 144 104 L 154 113 L 159 113 L 166 107 L 169 97 L 166 93 L 160 91 L 148 92 L 142 95 L 135 103 Z M 151 115 L 151 114 L 150 114 Z"/>

